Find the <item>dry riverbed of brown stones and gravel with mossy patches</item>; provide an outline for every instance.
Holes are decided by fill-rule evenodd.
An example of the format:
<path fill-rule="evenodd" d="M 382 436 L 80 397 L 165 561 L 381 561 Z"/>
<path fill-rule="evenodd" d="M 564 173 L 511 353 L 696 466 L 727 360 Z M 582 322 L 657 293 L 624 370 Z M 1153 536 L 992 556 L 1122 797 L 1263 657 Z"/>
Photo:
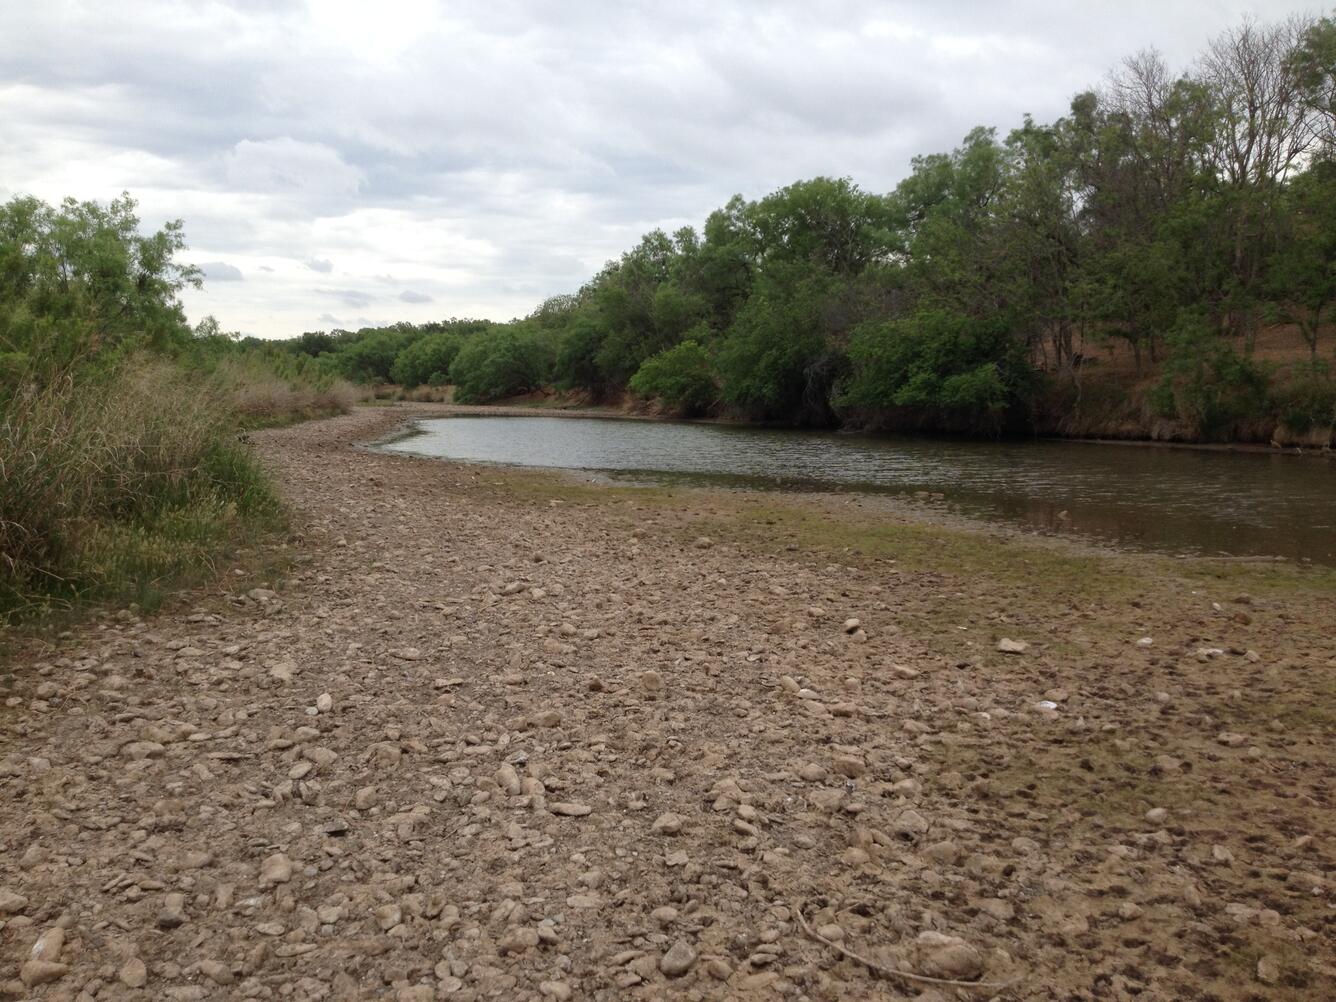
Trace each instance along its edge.
<path fill-rule="evenodd" d="M 285 574 L 24 641 L 0 997 L 1336 997 L 1329 576 L 354 448 L 402 417 L 257 436 Z"/>

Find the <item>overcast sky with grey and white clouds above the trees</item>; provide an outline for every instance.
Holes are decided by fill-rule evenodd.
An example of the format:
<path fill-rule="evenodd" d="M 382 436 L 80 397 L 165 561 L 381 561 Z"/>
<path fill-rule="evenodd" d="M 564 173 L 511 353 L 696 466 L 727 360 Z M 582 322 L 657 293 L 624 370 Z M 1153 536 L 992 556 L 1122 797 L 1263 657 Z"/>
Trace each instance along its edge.
<path fill-rule="evenodd" d="M 192 319 L 524 315 L 729 195 L 884 191 L 1230 0 L 0 0 L 0 198 L 183 218 Z"/>

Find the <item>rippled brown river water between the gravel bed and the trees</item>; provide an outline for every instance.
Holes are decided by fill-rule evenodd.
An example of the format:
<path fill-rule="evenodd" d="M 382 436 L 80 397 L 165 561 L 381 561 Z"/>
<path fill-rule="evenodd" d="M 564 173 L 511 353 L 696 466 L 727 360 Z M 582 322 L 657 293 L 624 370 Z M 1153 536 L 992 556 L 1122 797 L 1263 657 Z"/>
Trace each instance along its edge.
<path fill-rule="evenodd" d="M 1313 457 L 568 417 L 424 421 L 385 448 L 639 482 L 931 492 L 966 514 L 1124 546 L 1336 565 L 1336 462 Z"/>

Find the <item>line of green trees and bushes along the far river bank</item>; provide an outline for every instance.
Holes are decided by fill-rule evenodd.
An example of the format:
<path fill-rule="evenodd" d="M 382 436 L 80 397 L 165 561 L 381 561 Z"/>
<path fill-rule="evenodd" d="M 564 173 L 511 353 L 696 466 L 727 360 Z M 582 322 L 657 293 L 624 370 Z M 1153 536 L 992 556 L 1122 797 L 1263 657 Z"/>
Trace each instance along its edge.
<path fill-rule="evenodd" d="M 735 196 L 524 319 L 285 343 L 460 401 L 629 391 L 684 415 L 999 432 L 1070 406 L 1090 350 L 1121 342 L 1154 378 L 1145 406 L 1190 434 L 1329 426 L 1333 124 L 1336 20 L 1249 21 L 1186 73 L 1142 52 L 1057 122 L 915 158 L 890 194 Z M 1269 325 L 1308 346 L 1284 379 L 1255 357 Z"/>

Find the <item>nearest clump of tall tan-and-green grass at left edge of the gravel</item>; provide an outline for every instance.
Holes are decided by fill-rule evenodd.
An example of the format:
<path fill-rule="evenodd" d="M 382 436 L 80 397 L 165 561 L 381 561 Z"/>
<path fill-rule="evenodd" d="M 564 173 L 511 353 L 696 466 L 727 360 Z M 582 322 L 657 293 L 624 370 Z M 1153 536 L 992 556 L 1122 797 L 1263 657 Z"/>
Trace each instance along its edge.
<path fill-rule="evenodd" d="M 0 398 L 0 623 L 154 604 L 282 524 L 224 381 L 135 358 Z"/>

